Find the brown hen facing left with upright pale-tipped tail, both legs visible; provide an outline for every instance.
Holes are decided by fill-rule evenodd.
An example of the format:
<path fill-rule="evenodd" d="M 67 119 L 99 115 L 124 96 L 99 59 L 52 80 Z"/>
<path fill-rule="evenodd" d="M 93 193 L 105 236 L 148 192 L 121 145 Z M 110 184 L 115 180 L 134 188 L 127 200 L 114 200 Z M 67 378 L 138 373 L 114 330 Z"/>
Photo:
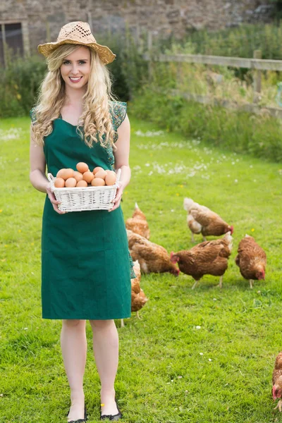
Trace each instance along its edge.
<path fill-rule="evenodd" d="M 190 250 L 171 252 L 171 262 L 178 263 L 180 271 L 195 279 L 192 289 L 195 288 L 200 278 L 207 274 L 220 276 L 219 286 L 221 288 L 232 245 L 233 238 L 231 232 L 228 232 L 219 240 L 205 241 Z"/>

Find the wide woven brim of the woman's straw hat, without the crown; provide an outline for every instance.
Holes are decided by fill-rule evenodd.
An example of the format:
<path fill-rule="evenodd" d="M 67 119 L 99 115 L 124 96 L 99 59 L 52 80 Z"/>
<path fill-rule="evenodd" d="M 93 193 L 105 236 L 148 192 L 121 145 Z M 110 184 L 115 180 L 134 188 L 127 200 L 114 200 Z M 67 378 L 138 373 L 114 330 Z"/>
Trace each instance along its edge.
<path fill-rule="evenodd" d="M 47 42 L 46 44 L 39 44 L 37 47 L 39 53 L 43 54 L 43 56 L 48 57 L 52 51 L 56 50 L 59 46 L 63 44 L 78 44 L 82 46 L 91 47 L 92 49 L 96 50 L 99 58 L 102 62 L 107 65 L 116 59 L 116 54 L 114 54 L 109 47 L 102 46 L 101 44 L 97 44 L 97 42 L 77 42 L 73 39 L 63 39 L 61 42 Z"/>

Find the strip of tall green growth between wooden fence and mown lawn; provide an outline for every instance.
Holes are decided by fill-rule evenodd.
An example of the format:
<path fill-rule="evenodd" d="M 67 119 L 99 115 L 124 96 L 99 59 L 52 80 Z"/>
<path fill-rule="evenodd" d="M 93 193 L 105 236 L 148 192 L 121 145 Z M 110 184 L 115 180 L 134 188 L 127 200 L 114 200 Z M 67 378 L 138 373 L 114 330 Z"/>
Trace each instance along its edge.
<path fill-rule="evenodd" d="M 200 137 L 209 146 L 282 161 L 282 123 L 268 115 L 187 102 L 152 85 L 135 96 L 130 109 L 137 118 L 156 123 L 168 132 Z"/>

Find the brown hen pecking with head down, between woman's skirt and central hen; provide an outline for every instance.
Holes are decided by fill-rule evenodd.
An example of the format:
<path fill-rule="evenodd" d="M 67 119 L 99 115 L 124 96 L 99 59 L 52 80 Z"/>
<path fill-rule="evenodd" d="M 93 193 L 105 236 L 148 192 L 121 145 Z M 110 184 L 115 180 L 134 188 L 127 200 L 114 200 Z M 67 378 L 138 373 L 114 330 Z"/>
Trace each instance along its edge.
<path fill-rule="evenodd" d="M 128 231 L 128 247 L 133 260 L 138 260 L 142 273 L 164 273 L 166 271 L 178 276 L 179 269 L 171 263 L 168 252 L 146 238 Z"/>

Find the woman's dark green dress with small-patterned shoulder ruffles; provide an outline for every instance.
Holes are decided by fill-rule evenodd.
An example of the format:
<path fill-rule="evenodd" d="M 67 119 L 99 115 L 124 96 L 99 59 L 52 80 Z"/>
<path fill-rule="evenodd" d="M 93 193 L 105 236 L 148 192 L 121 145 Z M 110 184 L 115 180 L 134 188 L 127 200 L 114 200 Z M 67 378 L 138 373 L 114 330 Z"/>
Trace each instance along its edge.
<path fill-rule="evenodd" d="M 126 104 L 110 102 L 116 132 L 126 114 Z M 36 124 L 35 109 L 30 111 Z M 84 161 L 90 169 L 113 169 L 109 146 L 94 142 L 87 147 L 77 127 L 55 119 L 44 137 L 47 171 Z M 46 196 L 42 217 L 42 318 L 121 319 L 130 317 L 131 283 L 135 277 L 121 207 L 108 212 L 93 210 L 59 214 Z"/>

